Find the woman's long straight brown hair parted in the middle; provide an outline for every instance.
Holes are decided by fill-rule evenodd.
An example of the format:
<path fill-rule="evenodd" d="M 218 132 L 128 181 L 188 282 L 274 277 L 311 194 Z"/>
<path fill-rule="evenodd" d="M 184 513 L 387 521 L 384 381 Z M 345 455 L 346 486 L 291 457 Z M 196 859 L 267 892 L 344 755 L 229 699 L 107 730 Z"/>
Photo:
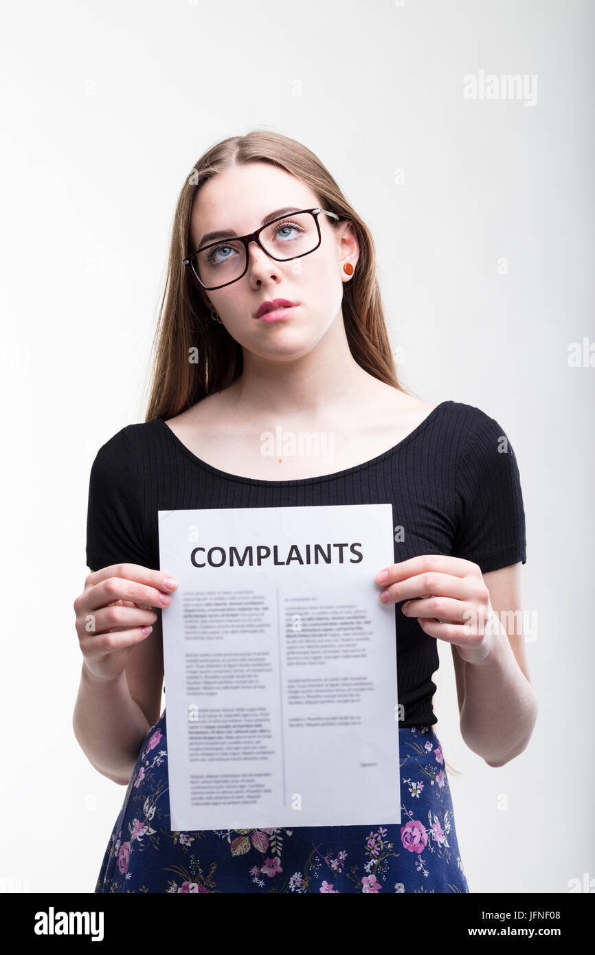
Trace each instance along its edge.
<path fill-rule="evenodd" d="M 223 325 L 212 320 L 200 288 L 181 265 L 188 247 L 190 214 L 203 182 L 234 165 L 270 162 L 306 183 L 322 208 L 349 220 L 359 243 L 359 259 L 343 292 L 345 330 L 354 360 L 374 378 L 409 394 L 397 380 L 385 325 L 372 234 L 320 159 L 281 133 L 251 130 L 211 146 L 181 187 L 172 226 L 165 287 L 153 339 L 153 370 L 145 422 L 169 418 L 191 408 L 207 394 L 228 388 L 243 371 L 242 347 Z M 330 219 L 331 226 L 337 220 Z M 192 361 L 190 356 L 192 355 Z M 194 360 L 196 358 L 196 360 Z"/>

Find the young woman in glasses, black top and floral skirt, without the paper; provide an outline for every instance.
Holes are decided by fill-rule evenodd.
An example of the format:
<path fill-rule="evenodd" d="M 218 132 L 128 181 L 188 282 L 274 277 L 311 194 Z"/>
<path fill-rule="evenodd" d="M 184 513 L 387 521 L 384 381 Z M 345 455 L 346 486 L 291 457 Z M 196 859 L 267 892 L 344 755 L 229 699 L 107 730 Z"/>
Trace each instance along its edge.
<path fill-rule="evenodd" d="M 536 697 L 522 635 L 499 623 L 516 620 L 525 562 L 506 435 L 401 387 L 369 230 L 274 133 L 223 140 L 185 182 L 156 342 L 145 421 L 93 463 L 74 602 L 74 732 L 127 786 L 96 892 L 468 892 L 432 675 L 444 640 L 466 743 L 490 766 L 524 750 Z M 280 424 L 332 435 L 332 458 L 265 456 Z M 160 610 L 177 584 L 159 569 L 159 509 L 387 501 L 394 563 L 375 580 L 396 607 L 401 824 L 170 832 Z"/>

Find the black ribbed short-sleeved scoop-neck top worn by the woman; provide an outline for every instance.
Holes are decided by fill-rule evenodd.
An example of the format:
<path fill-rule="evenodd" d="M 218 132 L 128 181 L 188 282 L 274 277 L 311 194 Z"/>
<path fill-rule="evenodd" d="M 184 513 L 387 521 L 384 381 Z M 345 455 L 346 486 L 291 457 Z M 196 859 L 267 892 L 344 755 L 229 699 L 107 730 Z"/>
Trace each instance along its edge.
<path fill-rule="evenodd" d="M 220 471 L 193 455 L 162 418 L 127 425 L 99 448 L 91 468 L 87 565 L 159 569 L 159 510 L 387 502 L 396 529 L 394 562 L 446 554 L 478 563 L 482 573 L 526 562 L 512 445 L 494 418 L 443 401 L 389 451 L 344 471 L 295 480 Z M 402 603 L 395 605 L 398 701 L 405 714 L 399 725 L 430 726 L 437 722 L 436 638 L 400 612 Z"/>

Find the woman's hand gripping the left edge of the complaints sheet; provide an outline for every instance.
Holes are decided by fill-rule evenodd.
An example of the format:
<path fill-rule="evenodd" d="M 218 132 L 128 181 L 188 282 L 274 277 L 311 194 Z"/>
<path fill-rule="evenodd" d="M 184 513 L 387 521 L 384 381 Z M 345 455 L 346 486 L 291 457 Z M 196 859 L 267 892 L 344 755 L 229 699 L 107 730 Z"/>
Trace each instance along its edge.
<path fill-rule="evenodd" d="M 84 666 L 96 679 L 116 680 L 131 647 L 148 637 L 157 620 L 152 608 L 169 606 L 178 586 L 176 581 L 166 586 L 167 579 L 172 580 L 138 563 L 115 563 L 89 574 L 74 601 L 74 626 Z"/>

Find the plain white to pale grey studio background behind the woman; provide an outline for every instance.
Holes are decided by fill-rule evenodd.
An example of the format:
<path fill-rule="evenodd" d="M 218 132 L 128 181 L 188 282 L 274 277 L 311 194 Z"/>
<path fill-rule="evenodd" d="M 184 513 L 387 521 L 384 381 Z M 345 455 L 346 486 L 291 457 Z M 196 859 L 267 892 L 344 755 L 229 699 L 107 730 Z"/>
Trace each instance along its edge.
<path fill-rule="evenodd" d="M 304 142 L 370 225 L 403 382 L 495 417 L 518 459 L 523 605 L 539 621 L 527 750 L 488 767 L 460 737 L 446 644 L 435 677 L 471 891 L 595 877 L 595 368 L 567 363 L 570 343 L 595 340 L 593 13 L 579 0 L 5 8 L 5 888 L 95 888 L 125 789 L 72 729 L 89 471 L 143 419 L 183 180 L 253 127 Z M 537 103 L 463 98 L 481 70 L 536 74 Z"/>

